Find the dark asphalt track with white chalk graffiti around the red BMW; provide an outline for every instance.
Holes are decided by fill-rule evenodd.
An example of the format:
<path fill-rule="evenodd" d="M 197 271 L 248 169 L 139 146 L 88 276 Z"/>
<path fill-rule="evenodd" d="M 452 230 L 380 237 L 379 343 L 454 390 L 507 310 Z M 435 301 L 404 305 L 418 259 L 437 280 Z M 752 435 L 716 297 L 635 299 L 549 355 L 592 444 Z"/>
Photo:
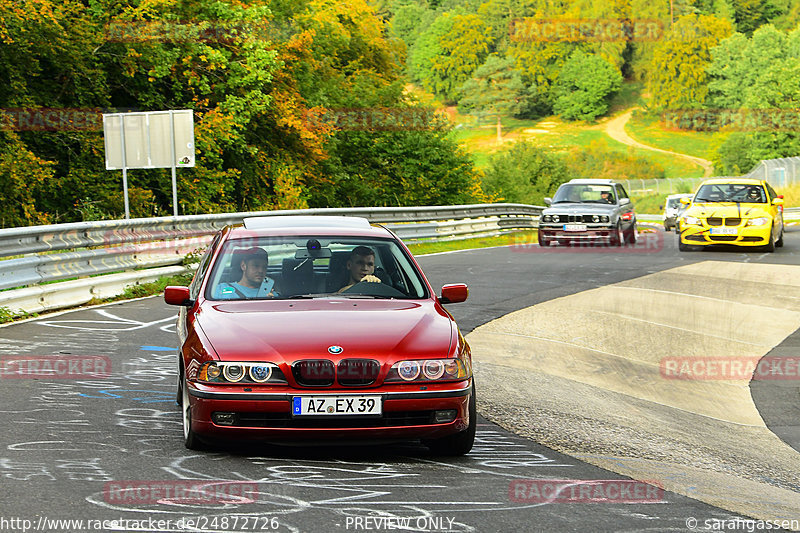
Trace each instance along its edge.
<path fill-rule="evenodd" d="M 522 307 L 689 261 L 800 261 L 800 232 L 775 254 L 679 253 L 674 234 L 662 234 L 662 246 L 644 252 L 497 248 L 421 263 L 434 287 L 470 285 L 470 299 L 450 307 L 466 333 Z M 608 488 L 598 480 L 620 476 L 484 419 L 473 451 L 457 459 L 413 443 L 190 452 L 174 402 L 174 316 L 150 298 L 0 329 L 4 357 L 100 355 L 111 364 L 102 379 L 0 382 L 0 531 L 688 531 L 691 518 L 701 526 L 735 518 L 668 492 L 636 503 L 515 492 L 521 480 Z M 194 483 L 205 492 L 175 496 Z M 69 519 L 85 522 L 52 522 Z"/>

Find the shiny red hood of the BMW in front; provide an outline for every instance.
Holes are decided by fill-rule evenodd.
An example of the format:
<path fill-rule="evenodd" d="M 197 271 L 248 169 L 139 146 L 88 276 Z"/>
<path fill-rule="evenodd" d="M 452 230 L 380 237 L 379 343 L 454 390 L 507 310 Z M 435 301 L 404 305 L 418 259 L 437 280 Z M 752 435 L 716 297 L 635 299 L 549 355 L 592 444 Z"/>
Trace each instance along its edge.
<path fill-rule="evenodd" d="M 221 360 L 446 357 L 452 318 L 433 301 L 316 299 L 205 302 L 197 323 Z"/>

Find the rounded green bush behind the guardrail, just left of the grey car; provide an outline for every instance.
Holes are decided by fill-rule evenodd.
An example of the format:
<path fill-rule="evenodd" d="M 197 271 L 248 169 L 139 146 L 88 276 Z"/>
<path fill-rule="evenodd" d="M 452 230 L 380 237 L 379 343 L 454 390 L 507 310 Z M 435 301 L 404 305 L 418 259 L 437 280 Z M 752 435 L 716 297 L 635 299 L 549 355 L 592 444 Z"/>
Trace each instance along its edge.
<path fill-rule="evenodd" d="M 570 179 L 557 156 L 531 143 L 520 142 L 491 157 L 483 187 L 506 202 L 543 205 L 546 196 Z"/>

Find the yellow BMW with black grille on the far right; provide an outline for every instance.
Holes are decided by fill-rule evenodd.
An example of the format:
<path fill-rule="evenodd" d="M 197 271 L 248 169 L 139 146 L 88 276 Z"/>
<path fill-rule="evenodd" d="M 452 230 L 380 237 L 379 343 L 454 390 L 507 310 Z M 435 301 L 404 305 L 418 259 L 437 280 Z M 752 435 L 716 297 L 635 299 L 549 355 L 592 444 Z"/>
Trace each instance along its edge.
<path fill-rule="evenodd" d="M 763 180 L 720 178 L 700 185 L 680 218 L 678 248 L 732 244 L 767 252 L 783 246 L 783 200 Z"/>

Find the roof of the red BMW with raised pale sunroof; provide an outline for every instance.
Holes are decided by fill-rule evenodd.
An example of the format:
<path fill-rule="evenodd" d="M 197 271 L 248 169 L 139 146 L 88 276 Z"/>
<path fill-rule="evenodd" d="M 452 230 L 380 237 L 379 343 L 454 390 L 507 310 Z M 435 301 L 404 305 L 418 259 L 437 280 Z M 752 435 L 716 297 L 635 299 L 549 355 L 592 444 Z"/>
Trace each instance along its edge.
<path fill-rule="evenodd" d="M 363 217 L 328 215 L 280 215 L 246 217 L 241 226 L 231 228 L 228 238 L 252 236 L 328 235 L 353 237 L 392 237 L 383 226 L 373 226 Z"/>

